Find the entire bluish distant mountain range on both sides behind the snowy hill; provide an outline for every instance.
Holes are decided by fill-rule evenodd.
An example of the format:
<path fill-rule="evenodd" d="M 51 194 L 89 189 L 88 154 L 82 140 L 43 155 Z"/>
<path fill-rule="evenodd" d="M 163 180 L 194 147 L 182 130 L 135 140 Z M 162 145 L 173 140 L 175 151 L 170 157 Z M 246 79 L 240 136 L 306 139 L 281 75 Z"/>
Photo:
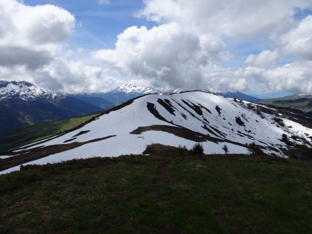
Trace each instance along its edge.
<path fill-rule="evenodd" d="M 109 109 L 132 98 L 150 93 L 162 93 L 162 91 L 153 87 L 125 84 L 116 89 L 109 89 L 100 93 L 80 93 L 64 96 L 40 89 L 28 82 L 7 82 L 1 80 L 0 135 L 14 129 L 34 125 L 35 123 Z M 295 108 L 301 111 L 311 111 L 312 107 L 312 96 L 304 94 L 269 100 L 259 100 L 259 98 L 245 95 L 239 91 L 217 91 L 215 94 L 226 98 L 259 102 L 275 107 Z"/>

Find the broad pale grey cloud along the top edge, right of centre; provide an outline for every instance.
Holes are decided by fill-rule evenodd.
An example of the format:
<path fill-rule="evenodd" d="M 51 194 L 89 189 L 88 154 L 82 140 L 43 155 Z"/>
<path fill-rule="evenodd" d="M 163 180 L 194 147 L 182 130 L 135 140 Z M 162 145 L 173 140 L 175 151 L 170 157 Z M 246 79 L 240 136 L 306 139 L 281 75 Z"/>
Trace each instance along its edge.
<path fill-rule="evenodd" d="M 160 24 L 179 22 L 204 32 L 240 38 L 287 28 L 295 23 L 295 9 L 311 7 L 308 0 L 146 0 L 144 3 L 146 6 L 138 15 Z"/>

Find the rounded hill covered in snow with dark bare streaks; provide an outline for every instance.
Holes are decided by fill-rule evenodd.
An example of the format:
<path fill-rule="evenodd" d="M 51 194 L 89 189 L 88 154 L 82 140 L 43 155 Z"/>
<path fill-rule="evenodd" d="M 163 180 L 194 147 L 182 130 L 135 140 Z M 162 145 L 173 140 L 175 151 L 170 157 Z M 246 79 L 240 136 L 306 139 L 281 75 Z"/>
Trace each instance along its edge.
<path fill-rule="evenodd" d="M 292 147 L 312 147 L 312 129 L 275 116 L 275 109 L 191 91 L 150 94 L 106 111 L 71 132 L 26 145 L 0 156 L 1 173 L 20 165 L 46 164 L 94 156 L 142 154 L 148 145 L 190 149 L 196 142 L 206 154 L 248 154 L 256 143 L 263 152 L 286 157 Z"/>

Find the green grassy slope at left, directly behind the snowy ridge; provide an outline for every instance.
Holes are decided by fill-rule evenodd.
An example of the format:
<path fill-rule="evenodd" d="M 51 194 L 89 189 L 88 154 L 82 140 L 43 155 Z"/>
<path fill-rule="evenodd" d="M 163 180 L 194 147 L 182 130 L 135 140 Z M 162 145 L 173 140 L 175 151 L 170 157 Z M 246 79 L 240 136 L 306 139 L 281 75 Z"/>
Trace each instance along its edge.
<path fill-rule="evenodd" d="M 65 120 L 41 123 L 17 130 L 6 136 L 0 136 L 0 152 L 55 136 L 61 132 L 73 129 L 74 127 L 77 127 L 99 114 L 100 113 L 96 113 L 87 116 L 78 116 Z"/>

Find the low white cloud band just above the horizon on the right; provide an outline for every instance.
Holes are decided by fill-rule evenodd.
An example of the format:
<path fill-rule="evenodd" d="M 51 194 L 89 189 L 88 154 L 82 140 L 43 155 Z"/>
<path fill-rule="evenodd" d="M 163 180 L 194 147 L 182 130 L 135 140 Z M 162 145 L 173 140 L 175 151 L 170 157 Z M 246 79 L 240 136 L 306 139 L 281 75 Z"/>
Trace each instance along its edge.
<path fill-rule="evenodd" d="M 312 62 L 294 62 L 265 69 L 248 66 L 245 69 L 224 69 L 207 66 L 202 71 L 203 85 L 208 89 L 270 93 L 293 91 L 312 93 Z"/>

